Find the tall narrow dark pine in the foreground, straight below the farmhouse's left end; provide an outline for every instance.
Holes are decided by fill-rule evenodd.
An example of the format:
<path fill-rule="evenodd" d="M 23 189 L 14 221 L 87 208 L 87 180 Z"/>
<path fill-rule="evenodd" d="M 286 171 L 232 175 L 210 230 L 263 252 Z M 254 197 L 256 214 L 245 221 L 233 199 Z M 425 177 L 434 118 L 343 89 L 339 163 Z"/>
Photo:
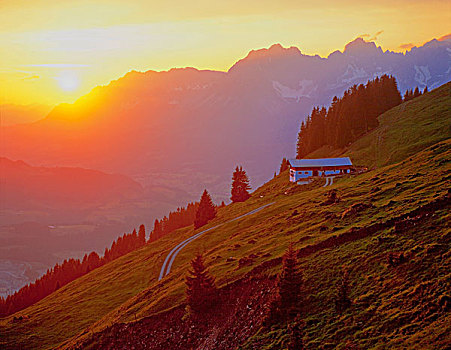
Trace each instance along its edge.
<path fill-rule="evenodd" d="M 280 309 L 286 316 L 293 316 L 301 299 L 302 275 L 299 271 L 296 251 L 290 243 L 283 256 L 282 272 L 279 275 Z"/>

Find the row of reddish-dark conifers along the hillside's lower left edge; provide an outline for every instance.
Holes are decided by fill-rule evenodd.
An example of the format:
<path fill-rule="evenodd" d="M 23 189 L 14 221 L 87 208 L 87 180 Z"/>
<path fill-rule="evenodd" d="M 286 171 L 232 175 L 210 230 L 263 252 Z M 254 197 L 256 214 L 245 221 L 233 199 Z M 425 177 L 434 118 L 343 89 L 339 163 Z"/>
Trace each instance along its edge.
<path fill-rule="evenodd" d="M 56 264 L 53 268 L 48 269 L 35 282 L 27 284 L 6 298 L 0 297 L 0 316 L 8 316 L 23 310 L 73 280 L 145 244 L 145 227 L 141 225 L 138 233 L 133 230 L 132 233 L 124 233 L 123 236 L 113 241 L 111 247 L 105 249 L 103 257 L 100 257 L 96 252 L 91 252 L 85 254 L 82 260 L 66 259 L 63 263 Z"/>

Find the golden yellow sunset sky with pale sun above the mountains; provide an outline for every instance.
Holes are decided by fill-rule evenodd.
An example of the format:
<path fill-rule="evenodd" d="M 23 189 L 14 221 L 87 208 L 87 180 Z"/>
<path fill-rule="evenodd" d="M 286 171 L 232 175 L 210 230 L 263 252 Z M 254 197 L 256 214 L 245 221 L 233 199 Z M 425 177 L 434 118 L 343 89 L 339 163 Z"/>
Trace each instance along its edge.
<path fill-rule="evenodd" d="M 451 32 L 449 0 L 0 0 L 0 103 L 73 102 L 130 70 L 227 70 L 274 43 L 327 56 Z"/>

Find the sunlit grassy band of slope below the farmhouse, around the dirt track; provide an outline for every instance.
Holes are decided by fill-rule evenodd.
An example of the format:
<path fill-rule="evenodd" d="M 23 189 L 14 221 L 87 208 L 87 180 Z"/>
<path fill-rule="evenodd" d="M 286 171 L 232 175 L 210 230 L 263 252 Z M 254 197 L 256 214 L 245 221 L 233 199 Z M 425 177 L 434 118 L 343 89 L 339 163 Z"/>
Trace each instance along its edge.
<path fill-rule="evenodd" d="M 426 97 L 428 95 L 423 96 Z M 448 102 L 449 96 L 444 103 Z M 287 174 L 282 174 L 258 189 L 246 203 L 221 209 L 210 225 L 276 201 L 274 205 L 254 216 L 226 224 L 189 244 L 177 257 L 168 278 L 157 282 L 164 256 L 177 242 L 193 234 L 190 228 L 174 232 L 97 269 L 14 315 L 27 315 L 23 321 L 14 321 L 13 317 L 0 320 L 0 345 L 53 347 L 80 332 L 86 332 L 81 336 L 86 337 L 89 332 L 101 330 L 113 322 L 133 321 L 178 305 L 183 302 L 184 274 L 197 251 L 206 252 L 207 264 L 217 276 L 218 284 L 223 285 L 240 278 L 253 266 L 280 256 L 290 239 L 300 248 L 350 227 L 365 226 L 408 212 L 450 187 L 447 175 L 451 170 L 450 152 L 448 141 L 404 163 L 341 179 L 334 188 L 339 190 L 342 201 L 332 207 L 319 205 L 330 188 L 293 186 L 288 183 Z M 379 179 L 374 180 L 376 177 Z M 376 186 L 380 190 L 372 193 Z M 339 216 L 353 203 L 365 202 L 370 196 L 374 198 L 375 208 L 360 213 L 357 218 L 325 220 L 326 214 Z M 292 217 L 295 209 L 300 215 Z M 325 229 L 320 230 L 321 226 Z M 250 254 L 258 255 L 253 265 L 238 268 L 238 259 Z M 228 257 L 237 260 L 227 262 Z"/>

